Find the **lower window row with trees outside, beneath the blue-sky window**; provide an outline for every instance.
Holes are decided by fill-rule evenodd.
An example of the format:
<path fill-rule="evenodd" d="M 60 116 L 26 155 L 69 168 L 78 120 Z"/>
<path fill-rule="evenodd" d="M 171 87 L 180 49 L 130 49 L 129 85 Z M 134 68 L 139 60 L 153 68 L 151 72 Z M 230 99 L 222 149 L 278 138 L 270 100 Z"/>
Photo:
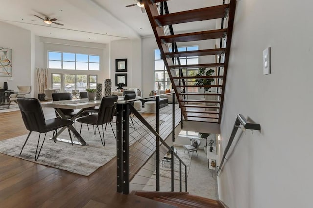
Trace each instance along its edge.
<path fill-rule="evenodd" d="M 52 74 L 51 77 L 52 88 L 63 89 L 64 92 L 85 91 L 86 88 L 96 89 L 97 87 L 97 75 Z"/>

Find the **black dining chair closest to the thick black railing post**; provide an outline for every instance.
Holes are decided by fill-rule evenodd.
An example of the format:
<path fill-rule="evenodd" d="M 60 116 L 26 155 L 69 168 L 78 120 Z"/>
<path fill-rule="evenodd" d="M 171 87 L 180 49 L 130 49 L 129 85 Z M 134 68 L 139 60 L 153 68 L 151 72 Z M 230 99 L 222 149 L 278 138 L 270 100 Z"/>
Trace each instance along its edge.
<path fill-rule="evenodd" d="M 96 129 L 98 129 L 99 135 L 100 135 L 100 140 L 103 146 L 105 146 L 105 141 L 104 141 L 104 130 L 103 130 L 103 124 L 109 123 L 111 125 L 111 122 L 113 120 L 114 114 L 115 114 L 115 102 L 117 101 L 118 96 L 113 95 L 113 96 L 106 96 L 103 97 L 101 100 L 100 108 L 99 108 L 99 113 L 94 114 L 94 115 L 89 115 L 85 116 L 82 118 L 77 119 L 77 122 L 81 122 L 80 126 L 80 132 L 82 132 L 82 126 L 84 124 L 91 124 L 95 125 Z M 102 125 L 102 136 L 103 140 L 101 138 L 101 133 L 99 130 L 99 125 Z M 114 133 L 113 127 L 111 125 L 114 137 L 116 139 L 116 135 Z"/>

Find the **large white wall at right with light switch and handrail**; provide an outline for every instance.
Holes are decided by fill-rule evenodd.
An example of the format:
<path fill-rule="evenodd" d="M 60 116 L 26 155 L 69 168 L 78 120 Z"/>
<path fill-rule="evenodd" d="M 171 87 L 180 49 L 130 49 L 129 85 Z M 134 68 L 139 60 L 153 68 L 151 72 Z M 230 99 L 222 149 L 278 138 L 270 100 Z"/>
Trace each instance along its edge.
<path fill-rule="evenodd" d="M 242 133 L 218 178 L 219 198 L 230 208 L 312 207 L 312 6 L 309 0 L 237 1 L 222 153 L 238 113 L 261 131 Z M 268 46 L 272 73 L 263 75 Z"/>

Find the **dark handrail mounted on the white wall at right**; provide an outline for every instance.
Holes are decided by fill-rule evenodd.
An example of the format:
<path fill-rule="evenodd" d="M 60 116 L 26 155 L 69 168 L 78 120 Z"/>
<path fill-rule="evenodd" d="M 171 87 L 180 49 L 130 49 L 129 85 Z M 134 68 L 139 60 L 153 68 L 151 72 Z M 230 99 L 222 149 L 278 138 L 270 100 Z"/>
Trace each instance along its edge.
<path fill-rule="evenodd" d="M 217 170 L 217 175 L 219 175 L 219 172 L 222 170 L 222 166 L 223 166 L 223 163 L 224 163 L 224 159 L 226 159 L 226 155 L 228 153 L 228 150 L 235 138 L 235 135 L 237 133 L 237 130 L 239 128 L 240 125 L 243 125 L 245 129 L 251 129 L 251 130 L 260 130 L 261 129 L 261 126 L 260 124 L 257 124 L 257 123 L 248 123 L 247 120 L 245 119 L 245 117 L 241 114 L 238 114 L 237 115 L 237 118 L 236 118 L 236 121 L 235 121 L 235 125 L 234 125 L 234 128 L 233 128 L 233 131 L 231 132 L 231 135 L 230 135 L 230 138 L 229 138 L 229 141 L 228 141 L 228 144 L 225 148 L 225 152 L 223 154 L 223 158 L 221 160 L 221 163 L 220 165 L 218 166 L 218 170 Z"/>

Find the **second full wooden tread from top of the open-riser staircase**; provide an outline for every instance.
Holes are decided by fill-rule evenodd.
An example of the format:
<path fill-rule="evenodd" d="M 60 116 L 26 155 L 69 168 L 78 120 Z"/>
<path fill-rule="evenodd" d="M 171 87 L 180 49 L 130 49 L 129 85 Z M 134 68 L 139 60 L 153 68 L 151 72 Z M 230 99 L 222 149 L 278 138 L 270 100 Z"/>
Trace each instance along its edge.
<path fill-rule="evenodd" d="M 200 41 L 208 39 L 224 38 L 227 29 L 207 30 L 192 33 L 182 33 L 177 35 L 160 36 L 163 43 Z"/>

